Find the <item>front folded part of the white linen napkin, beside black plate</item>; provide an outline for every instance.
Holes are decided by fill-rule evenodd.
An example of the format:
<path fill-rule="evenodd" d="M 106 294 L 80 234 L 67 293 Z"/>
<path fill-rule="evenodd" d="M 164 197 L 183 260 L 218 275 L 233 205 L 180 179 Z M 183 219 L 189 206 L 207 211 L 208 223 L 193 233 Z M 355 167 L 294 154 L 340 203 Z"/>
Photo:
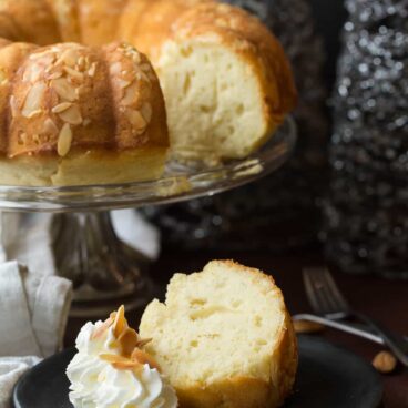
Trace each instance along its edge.
<path fill-rule="evenodd" d="M 62 347 L 71 299 L 71 282 L 0 264 L 0 408 L 22 374 Z"/>

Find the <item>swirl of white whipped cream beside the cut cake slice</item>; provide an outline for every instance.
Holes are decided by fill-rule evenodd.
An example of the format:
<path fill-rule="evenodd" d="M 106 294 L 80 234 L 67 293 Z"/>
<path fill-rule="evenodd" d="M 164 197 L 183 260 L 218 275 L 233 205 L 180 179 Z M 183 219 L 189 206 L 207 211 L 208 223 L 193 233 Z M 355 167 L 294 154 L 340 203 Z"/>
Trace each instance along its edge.
<path fill-rule="evenodd" d="M 176 408 L 177 397 L 157 369 L 119 369 L 101 356 L 121 355 L 113 327 L 88 323 L 78 338 L 78 354 L 67 369 L 70 401 L 75 408 Z"/>

